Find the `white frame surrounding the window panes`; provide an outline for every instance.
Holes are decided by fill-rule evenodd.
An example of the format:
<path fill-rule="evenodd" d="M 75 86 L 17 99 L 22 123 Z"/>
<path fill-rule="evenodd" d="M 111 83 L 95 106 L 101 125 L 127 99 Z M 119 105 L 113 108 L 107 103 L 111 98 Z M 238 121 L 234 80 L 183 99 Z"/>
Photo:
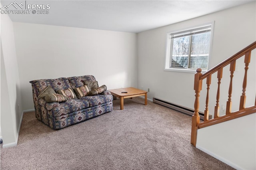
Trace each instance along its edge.
<path fill-rule="evenodd" d="M 190 69 L 190 68 L 172 68 L 170 67 L 170 60 L 171 60 L 171 49 L 172 49 L 172 40 L 171 40 L 171 35 L 176 34 L 179 32 L 188 32 L 190 30 L 198 29 L 198 28 L 203 28 L 206 26 L 211 26 L 211 37 L 210 37 L 210 51 L 209 51 L 209 58 L 208 58 L 208 69 L 210 67 L 210 59 L 211 59 L 211 53 L 212 53 L 212 39 L 213 39 L 213 32 L 214 32 L 214 21 L 213 22 L 208 22 L 205 24 L 201 24 L 198 26 L 193 26 L 190 28 L 182 29 L 182 30 L 176 30 L 172 32 L 167 33 L 167 39 L 166 39 L 166 56 L 165 56 L 165 67 L 164 71 L 178 71 L 178 72 L 188 72 L 188 73 L 195 73 L 196 69 Z M 208 70 L 207 69 L 207 70 Z M 202 70 L 201 73 L 206 72 L 207 70 Z"/>

